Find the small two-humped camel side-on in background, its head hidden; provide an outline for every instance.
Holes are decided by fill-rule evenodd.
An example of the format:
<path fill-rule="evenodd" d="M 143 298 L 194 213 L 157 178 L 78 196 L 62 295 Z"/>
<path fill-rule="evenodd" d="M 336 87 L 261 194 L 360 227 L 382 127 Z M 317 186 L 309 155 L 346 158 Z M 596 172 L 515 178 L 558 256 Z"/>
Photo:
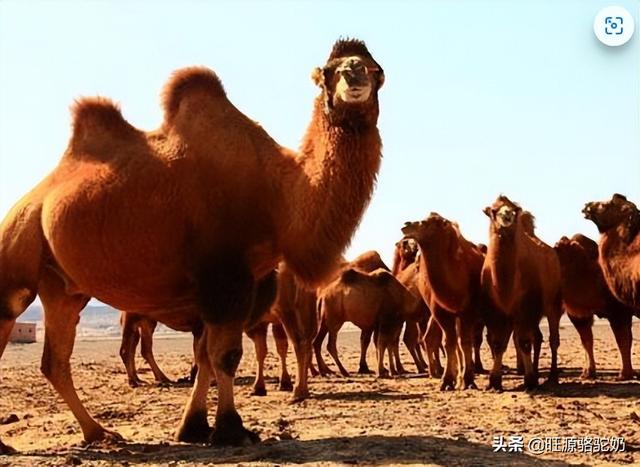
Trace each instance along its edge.
<path fill-rule="evenodd" d="M 376 269 L 367 273 L 354 268 L 344 270 L 318 295 L 320 329 L 313 347 L 320 374 L 331 372 L 320 351 L 324 337 L 328 334 L 327 350 L 340 373 L 345 377 L 349 376 L 340 362 L 337 349 L 338 332 L 346 321 L 358 326 L 363 333 L 375 332 L 378 376 L 389 375 L 384 367 L 385 352 L 389 352 L 391 372 L 397 374 L 395 361 L 391 358 L 392 346 L 400 335 L 405 314 L 413 312 L 416 306 L 417 299 L 389 271 Z"/>

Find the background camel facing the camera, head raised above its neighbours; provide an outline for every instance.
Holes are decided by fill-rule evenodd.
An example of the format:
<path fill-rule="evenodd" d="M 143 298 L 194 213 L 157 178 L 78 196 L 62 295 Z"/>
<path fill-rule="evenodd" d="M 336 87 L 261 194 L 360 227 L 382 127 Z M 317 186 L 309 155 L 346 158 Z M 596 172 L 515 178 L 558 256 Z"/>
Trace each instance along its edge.
<path fill-rule="evenodd" d="M 561 273 L 553 248 L 537 238 L 531 213 L 506 196 L 484 209 L 490 218 L 489 246 L 481 282 L 487 297 L 486 325 L 493 367 L 489 389 L 502 390 L 502 357 L 513 330 L 524 387 L 538 385 L 540 320 L 549 322 L 549 382 L 558 380 L 558 346 L 562 316 Z M 534 351 L 533 360 L 531 350 Z"/>

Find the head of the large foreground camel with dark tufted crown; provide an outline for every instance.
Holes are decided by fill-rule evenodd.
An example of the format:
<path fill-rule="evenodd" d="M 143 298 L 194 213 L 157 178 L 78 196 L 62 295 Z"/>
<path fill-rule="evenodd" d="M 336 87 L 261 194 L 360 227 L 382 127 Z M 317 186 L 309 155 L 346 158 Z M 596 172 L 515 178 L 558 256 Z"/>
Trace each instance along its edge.
<path fill-rule="evenodd" d="M 354 118 L 378 118 L 378 90 L 384 83 L 382 67 L 364 42 L 341 39 L 333 46 L 327 63 L 311 75 L 322 90 L 324 111 L 335 124 Z"/>

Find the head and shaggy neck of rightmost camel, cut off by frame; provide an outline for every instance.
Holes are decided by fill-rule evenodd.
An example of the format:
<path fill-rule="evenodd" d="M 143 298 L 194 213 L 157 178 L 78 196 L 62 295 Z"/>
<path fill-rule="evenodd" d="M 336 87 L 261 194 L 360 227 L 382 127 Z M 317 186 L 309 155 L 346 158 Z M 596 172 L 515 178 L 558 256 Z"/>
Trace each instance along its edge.
<path fill-rule="evenodd" d="M 640 309 L 640 211 L 625 196 L 593 201 L 583 209 L 600 232 L 599 262 L 613 295 L 625 305 Z"/>

